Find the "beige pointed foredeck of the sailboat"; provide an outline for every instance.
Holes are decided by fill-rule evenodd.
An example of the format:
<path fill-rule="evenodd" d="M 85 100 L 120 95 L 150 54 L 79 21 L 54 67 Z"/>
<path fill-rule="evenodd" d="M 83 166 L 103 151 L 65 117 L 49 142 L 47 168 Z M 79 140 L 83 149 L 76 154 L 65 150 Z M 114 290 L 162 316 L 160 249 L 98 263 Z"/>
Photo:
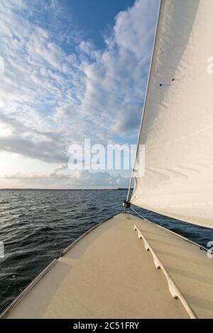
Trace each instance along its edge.
<path fill-rule="evenodd" d="M 119 214 L 82 237 L 4 312 L 8 318 L 189 318 L 138 229 L 197 317 L 213 317 L 213 261 L 186 240 Z M 19 302 L 19 303 L 18 303 Z"/>

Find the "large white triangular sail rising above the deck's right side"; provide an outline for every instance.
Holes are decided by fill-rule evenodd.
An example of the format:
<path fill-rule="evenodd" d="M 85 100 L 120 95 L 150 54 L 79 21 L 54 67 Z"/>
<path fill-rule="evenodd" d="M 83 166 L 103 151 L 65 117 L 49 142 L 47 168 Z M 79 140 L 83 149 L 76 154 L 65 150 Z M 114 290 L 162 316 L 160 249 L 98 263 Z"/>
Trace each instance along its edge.
<path fill-rule="evenodd" d="M 161 1 L 131 203 L 213 228 L 211 57 L 213 1 Z"/>

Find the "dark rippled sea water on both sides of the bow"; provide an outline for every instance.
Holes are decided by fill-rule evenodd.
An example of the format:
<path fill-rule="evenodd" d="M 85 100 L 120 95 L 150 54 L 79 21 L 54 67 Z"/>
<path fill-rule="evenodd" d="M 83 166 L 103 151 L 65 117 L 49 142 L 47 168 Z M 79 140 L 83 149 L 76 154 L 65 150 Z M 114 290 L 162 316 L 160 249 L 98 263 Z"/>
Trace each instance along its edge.
<path fill-rule="evenodd" d="M 0 191 L 0 312 L 35 276 L 93 225 L 121 213 L 124 190 Z M 204 247 L 213 231 L 136 208 L 153 222 Z"/>

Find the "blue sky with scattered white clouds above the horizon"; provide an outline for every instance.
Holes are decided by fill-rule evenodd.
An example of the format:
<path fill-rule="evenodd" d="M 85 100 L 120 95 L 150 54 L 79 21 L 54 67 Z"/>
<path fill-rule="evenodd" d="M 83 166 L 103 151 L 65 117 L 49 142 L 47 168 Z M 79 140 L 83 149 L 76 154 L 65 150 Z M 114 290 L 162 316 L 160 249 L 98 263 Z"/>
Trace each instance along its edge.
<path fill-rule="evenodd" d="M 68 149 L 136 143 L 157 12 L 158 0 L 0 0 L 0 188 L 127 186 L 130 171 L 71 171 Z"/>

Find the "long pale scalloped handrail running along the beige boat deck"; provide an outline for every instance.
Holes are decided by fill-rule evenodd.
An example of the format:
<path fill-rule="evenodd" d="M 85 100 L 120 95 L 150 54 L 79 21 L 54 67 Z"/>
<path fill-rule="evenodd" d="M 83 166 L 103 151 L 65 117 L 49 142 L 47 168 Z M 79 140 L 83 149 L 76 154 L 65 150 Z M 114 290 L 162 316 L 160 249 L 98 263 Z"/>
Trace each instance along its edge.
<path fill-rule="evenodd" d="M 183 307 L 185 307 L 185 310 L 187 311 L 188 315 L 190 316 L 191 319 L 198 319 L 196 313 L 192 309 L 191 305 L 187 303 L 187 300 L 185 299 L 184 295 L 182 295 L 180 289 L 176 285 L 175 281 L 173 281 L 173 278 L 170 276 L 170 273 L 168 273 L 167 269 L 163 265 L 162 261 L 158 258 L 158 255 L 155 253 L 153 248 L 151 247 L 151 244 L 148 243 L 148 240 L 144 235 L 142 234 L 141 230 L 138 229 L 136 225 L 134 225 L 133 229 L 138 232 L 138 238 L 143 239 L 144 246 L 146 251 L 150 251 L 151 254 L 153 255 L 153 260 L 156 269 L 162 269 L 165 278 L 168 281 L 168 288 L 170 290 L 170 294 L 173 296 L 173 298 L 179 299 L 180 302 L 182 303 Z"/>

